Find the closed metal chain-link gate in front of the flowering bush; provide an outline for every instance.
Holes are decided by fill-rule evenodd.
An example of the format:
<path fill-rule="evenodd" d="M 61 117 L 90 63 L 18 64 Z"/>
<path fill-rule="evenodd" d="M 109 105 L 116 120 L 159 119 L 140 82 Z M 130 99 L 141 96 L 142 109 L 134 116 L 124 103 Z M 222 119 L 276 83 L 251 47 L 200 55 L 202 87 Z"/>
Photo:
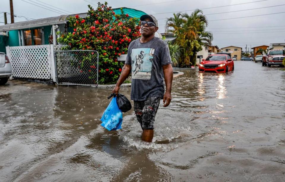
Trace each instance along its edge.
<path fill-rule="evenodd" d="M 58 85 L 98 86 L 98 51 L 55 51 Z"/>

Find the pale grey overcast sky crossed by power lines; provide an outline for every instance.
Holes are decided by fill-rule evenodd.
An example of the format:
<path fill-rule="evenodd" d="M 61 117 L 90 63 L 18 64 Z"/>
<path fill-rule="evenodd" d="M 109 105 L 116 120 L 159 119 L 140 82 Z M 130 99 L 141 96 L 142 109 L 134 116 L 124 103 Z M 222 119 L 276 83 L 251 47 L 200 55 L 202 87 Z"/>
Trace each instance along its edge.
<path fill-rule="evenodd" d="M 25 2 L 26 1 L 26 2 Z M 34 2 L 32 2 L 34 1 Z M 90 3 L 88 3 L 88 2 Z M 257 2 L 255 2 L 257 1 Z M 46 3 L 43 4 L 42 2 Z M 13 0 L 14 14 L 25 16 L 27 18 L 39 19 L 45 17 L 55 17 L 61 14 L 72 14 L 87 12 L 88 4 L 94 7 L 98 1 L 94 0 Z M 105 2 L 105 1 L 100 1 Z M 165 19 L 173 17 L 169 12 L 185 12 L 191 14 L 191 9 L 202 9 L 208 17 L 208 31 L 214 35 L 213 45 L 220 48 L 226 46 L 239 46 L 245 50 L 246 44 L 249 47 L 258 45 L 269 45 L 270 43 L 285 42 L 285 13 L 264 15 L 278 12 L 285 12 L 284 0 L 144 0 L 144 1 L 107 1 L 113 8 L 129 7 L 141 10 L 148 14 L 153 14 L 159 22 L 159 32 L 164 32 Z M 253 3 L 248 3 L 253 2 Z M 31 3 L 31 4 L 29 4 Z M 33 4 L 43 4 L 52 9 L 47 10 L 37 7 Z M 154 4 L 156 3 L 156 4 Z M 241 4 L 248 3 L 248 4 Z M 39 4 L 36 4 L 40 6 Z M 52 5 L 54 7 L 48 6 Z M 240 4 L 240 5 L 234 5 Z M 232 5 L 232 6 L 227 6 Z M 226 7 L 219 7 L 226 6 Z M 274 6 L 274 7 L 269 7 Z M 57 9 L 57 8 L 60 9 Z M 217 7 L 217 8 L 213 8 Z M 266 7 L 266 8 L 263 8 Z M 262 9 L 256 9 L 262 8 Z M 56 9 L 56 10 L 55 10 Z M 64 10 L 61 10 L 64 9 Z M 246 10 L 252 9 L 252 10 Z M 232 12 L 246 10 L 240 12 Z M 55 11 L 55 12 L 53 12 Z M 61 12 L 58 12 L 61 11 Z M 66 12 L 67 11 L 67 12 Z M 1 0 L 0 22 L 4 22 L 4 14 L 1 12 L 10 12 L 9 0 Z M 229 12 L 229 13 L 221 13 Z M 221 13 L 214 14 L 213 13 Z M 212 14 L 212 15 L 208 15 Z M 264 16 L 255 16 L 264 15 Z M 254 16 L 230 20 L 221 20 L 235 17 Z M 8 23 L 10 15 L 7 15 Z M 212 21 L 217 20 L 217 21 Z M 15 22 L 26 21 L 24 17 L 15 17 Z M 4 23 L 0 23 L 4 25 Z M 259 28 L 256 28 L 259 27 Z"/>

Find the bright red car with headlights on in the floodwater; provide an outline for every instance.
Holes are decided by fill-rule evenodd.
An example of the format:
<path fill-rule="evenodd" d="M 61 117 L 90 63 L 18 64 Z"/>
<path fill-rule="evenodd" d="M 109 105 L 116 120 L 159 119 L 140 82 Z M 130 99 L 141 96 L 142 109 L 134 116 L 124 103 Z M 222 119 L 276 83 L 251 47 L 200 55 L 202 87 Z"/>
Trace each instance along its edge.
<path fill-rule="evenodd" d="M 227 73 L 235 69 L 234 61 L 227 54 L 214 54 L 202 59 L 200 72 Z"/>

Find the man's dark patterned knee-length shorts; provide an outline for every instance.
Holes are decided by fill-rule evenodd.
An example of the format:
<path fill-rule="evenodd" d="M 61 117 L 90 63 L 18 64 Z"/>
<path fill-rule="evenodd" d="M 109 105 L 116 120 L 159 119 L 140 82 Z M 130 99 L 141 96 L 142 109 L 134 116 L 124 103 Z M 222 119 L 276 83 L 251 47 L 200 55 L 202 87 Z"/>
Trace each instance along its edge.
<path fill-rule="evenodd" d="M 144 101 L 134 101 L 134 112 L 142 129 L 153 129 L 154 118 L 161 98 L 153 97 Z"/>

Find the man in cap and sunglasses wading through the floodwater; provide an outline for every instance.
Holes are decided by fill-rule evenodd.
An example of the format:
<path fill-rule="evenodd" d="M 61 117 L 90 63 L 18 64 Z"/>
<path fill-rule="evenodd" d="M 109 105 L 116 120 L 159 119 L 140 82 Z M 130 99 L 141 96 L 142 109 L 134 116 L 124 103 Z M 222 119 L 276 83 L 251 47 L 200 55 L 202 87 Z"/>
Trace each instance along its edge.
<path fill-rule="evenodd" d="M 142 140 L 151 142 L 159 102 L 163 98 L 163 107 L 167 107 L 171 101 L 173 70 L 166 42 L 154 36 L 158 30 L 156 18 L 143 15 L 140 20 L 142 36 L 129 45 L 127 59 L 113 93 L 118 94 L 121 84 L 132 72 L 134 112 L 143 129 Z"/>

